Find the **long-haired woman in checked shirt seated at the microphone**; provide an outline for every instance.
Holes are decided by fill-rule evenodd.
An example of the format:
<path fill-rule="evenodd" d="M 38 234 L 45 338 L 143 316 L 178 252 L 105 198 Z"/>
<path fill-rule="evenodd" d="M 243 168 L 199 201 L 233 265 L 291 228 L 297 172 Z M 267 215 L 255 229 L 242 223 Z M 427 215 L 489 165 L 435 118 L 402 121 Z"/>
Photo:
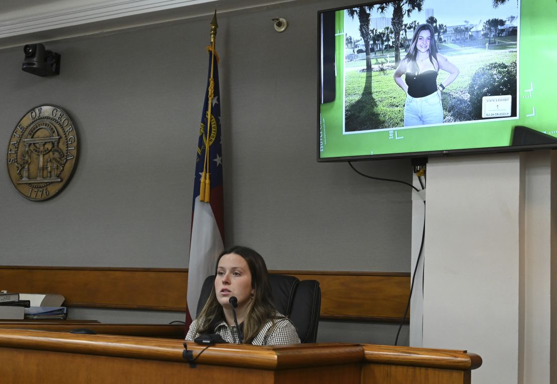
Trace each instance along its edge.
<path fill-rule="evenodd" d="M 236 246 L 219 255 L 211 294 L 185 339 L 206 333 L 217 333 L 228 343 L 300 343 L 294 325 L 273 307 L 267 266 L 255 250 Z"/>

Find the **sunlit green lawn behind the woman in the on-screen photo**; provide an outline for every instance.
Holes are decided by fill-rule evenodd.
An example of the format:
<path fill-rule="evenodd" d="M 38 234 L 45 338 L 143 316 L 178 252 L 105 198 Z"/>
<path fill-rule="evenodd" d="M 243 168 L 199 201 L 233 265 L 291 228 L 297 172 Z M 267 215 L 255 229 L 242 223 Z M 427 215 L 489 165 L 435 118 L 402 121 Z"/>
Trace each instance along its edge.
<path fill-rule="evenodd" d="M 468 93 L 468 86 L 472 75 L 482 66 L 493 62 L 504 62 L 509 64 L 516 61 L 516 51 L 511 50 L 488 50 L 485 48 L 467 48 L 466 54 L 452 55 L 450 52 L 446 53 L 449 61 L 455 64 L 459 70 L 460 75 L 456 80 L 447 87 L 443 92 L 443 105 L 449 99 L 455 97 L 465 97 Z M 393 80 L 394 70 L 386 70 L 384 72 L 373 72 L 372 74 L 372 95 L 363 95 L 366 73 L 359 71 L 346 72 L 346 85 L 345 85 L 345 102 L 346 102 L 346 130 L 367 130 L 367 129 L 380 129 L 403 126 L 404 121 L 404 100 L 405 93 Z M 437 82 L 441 82 L 447 77 L 447 72 L 439 72 Z M 362 126 L 361 119 L 348 119 L 349 115 L 364 114 L 361 110 L 360 100 L 371 100 L 367 104 L 375 104 L 373 114 L 377 119 L 373 122 L 373 126 Z M 359 102 L 360 101 L 360 102 Z M 358 111 L 355 111 L 357 106 Z M 446 112 L 447 114 L 447 112 Z M 358 124 L 350 126 L 350 121 L 358 121 Z"/>

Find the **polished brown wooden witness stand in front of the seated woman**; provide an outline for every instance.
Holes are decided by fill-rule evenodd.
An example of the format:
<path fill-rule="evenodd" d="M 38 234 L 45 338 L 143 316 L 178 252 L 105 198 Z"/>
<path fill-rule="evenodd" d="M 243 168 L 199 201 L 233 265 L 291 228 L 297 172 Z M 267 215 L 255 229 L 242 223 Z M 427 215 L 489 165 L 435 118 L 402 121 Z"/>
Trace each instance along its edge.
<path fill-rule="evenodd" d="M 465 384 L 471 370 L 481 365 L 474 353 L 448 349 L 216 344 L 191 368 L 182 357 L 182 340 L 2 327 L 0 377 L 6 383 Z M 186 345 L 193 357 L 204 348 Z"/>

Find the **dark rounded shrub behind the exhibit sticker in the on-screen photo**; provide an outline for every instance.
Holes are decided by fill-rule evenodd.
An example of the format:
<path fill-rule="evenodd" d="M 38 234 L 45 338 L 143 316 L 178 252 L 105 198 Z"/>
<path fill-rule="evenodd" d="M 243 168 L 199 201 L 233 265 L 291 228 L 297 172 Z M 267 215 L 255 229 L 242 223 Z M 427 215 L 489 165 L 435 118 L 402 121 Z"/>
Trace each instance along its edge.
<path fill-rule="evenodd" d="M 516 116 L 516 62 L 490 63 L 473 74 L 468 87 L 473 119 L 482 119 L 482 97 L 511 95 L 511 116 Z"/>

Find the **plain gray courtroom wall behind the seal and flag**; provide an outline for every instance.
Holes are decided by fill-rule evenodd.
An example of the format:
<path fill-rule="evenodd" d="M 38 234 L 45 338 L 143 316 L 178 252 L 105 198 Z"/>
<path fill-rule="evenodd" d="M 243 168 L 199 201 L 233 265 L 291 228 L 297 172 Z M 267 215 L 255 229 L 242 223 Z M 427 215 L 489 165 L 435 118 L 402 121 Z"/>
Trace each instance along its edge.
<path fill-rule="evenodd" d="M 409 188 L 315 160 L 317 10 L 336 5 L 218 16 L 226 244 L 250 245 L 270 269 L 409 272 Z M 272 17 L 285 17 L 287 31 Z M 47 43 L 62 55 L 54 77 L 22 72 L 21 47 L 0 51 L 4 145 L 42 104 L 71 115 L 80 145 L 74 178 L 51 200 L 26 200 L 0 170 L 0 264 L 187 267 L 210 21 Z M 356 166 L 411 181 L 408 160 Z M 368 340 L 393 333 L 324 322 L 320 339 L 336 341 L 340 327 L 367 341 L 368 325 Z"/>

